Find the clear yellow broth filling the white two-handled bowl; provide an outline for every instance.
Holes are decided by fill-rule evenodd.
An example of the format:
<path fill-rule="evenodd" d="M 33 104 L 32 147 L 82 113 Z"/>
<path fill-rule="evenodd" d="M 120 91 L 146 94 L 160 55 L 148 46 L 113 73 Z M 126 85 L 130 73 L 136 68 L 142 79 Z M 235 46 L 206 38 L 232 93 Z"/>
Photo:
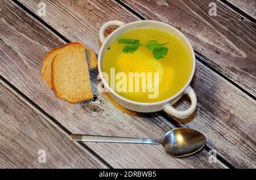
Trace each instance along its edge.
<path fill-rule="evenodd" d="M 148 41 L 157 40 L 159 43 L 164 44 L 168 48 L 168 54 L 163 59 L 154 59 L 152 52 L 146 49 L 145 46 L 139 47 L 133 54 L 123 53 L 122 49 L 125 44 L 118 44 L 118 40 L 122 38 L 133 38 L 141 42 L 141 44 L 146 45 Z M 154 85 L 154 72 L 159 73 L 159 95 L 156 98 L 148 98 L 152 92 L 143 91 L 143 83 L 139 84 L 139 92 L 117 92 L 122 97 L 129 100 L 137 102 L 157 102 L 165 100 L 171 96 L 174 96 L 179 92 L 184 85 L 187 83 L 189 76 L 192 71 L 192 61 L 191 53 L 189 52 L 189 47 L 180 40 L 180 38 L 175 37 L 171 33 L 162 31 L 161 29 L 154 28 L 137 28 L 131 31 L 125 32 L 110 43 L 109 48 L 105 51 L 103 59 L 103 71 L 108 74 L 109 85 L 110 82 L 115 82 L 115 85 L 122 80 L 115 79 L 115 76 L 110 76 L 110 68 L 115 68 L 115 75 L 118 72 L 123 72 L 127 77 L 129 77 L 129 72 L 152 72 L 152 80 L 148 80 L 146 84 Z M 129 78 L 128 78 L 129 79 Z M 129 87 L 129 80 L 127 80 L 127 87 Z M 135 80 L 133 81 L 133 87 L 135 87 Z M 123 85 L 119 87 L 123 87 Z M 138 90 L 138 89 L 137 89 Z"/>

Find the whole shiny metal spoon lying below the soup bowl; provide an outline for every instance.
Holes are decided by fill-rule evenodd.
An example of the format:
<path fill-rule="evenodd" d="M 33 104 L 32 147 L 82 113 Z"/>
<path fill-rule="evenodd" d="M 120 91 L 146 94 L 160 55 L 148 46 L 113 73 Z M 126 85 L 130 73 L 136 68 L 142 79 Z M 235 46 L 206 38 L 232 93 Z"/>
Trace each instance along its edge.
<path fill-rule="evenodd" d="M 205 136 L 201 132 L 189 128 L 174 128 L 167 132 L 161 140 L 81 134 L 72 134 L 69 139 L 82 142 L 159 144 L 165 152 L 173 157 L 192 155 L 203 148 L 206 143 Z"/>

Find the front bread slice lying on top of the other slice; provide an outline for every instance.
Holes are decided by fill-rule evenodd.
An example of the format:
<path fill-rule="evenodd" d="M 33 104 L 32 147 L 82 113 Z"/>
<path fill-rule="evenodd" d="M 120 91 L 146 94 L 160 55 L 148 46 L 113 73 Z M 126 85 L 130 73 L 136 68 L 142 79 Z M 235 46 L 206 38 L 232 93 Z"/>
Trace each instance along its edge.
<path fill-rule="evenodd" d="M 93 98 L 84 45 L 73 42 L 53 57 L 52 87 L 57 97 L 70 103 Z"/>

